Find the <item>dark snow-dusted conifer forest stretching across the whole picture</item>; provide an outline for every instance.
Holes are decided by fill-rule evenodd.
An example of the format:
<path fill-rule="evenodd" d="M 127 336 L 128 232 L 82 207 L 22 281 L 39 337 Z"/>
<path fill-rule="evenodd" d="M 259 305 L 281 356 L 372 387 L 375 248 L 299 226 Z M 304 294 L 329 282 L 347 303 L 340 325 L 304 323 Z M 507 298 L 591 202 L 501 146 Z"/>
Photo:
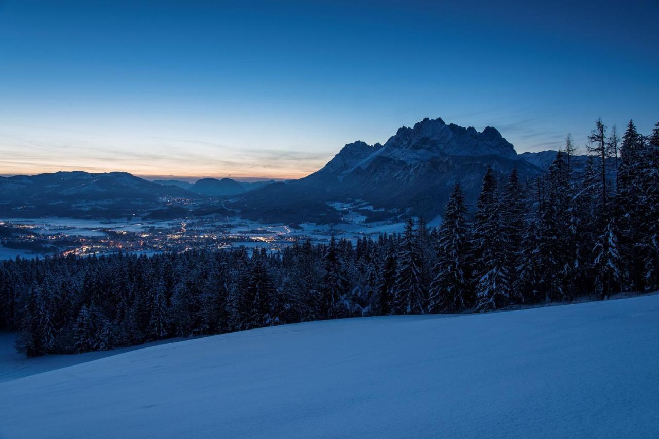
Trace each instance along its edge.
<path fill-rule="evenodd" d="M 0 265 L 0 328 L 28 355 L 365 315 L 483 311 L 659 287 L 659 124 L 619 140 L 597 122 L 583 172 L 567 138 L 548 173 L 488 168 L 470 214 L 455 186 L 438 228 L 281 253 L 16 259 Z M 619 159 L 617 158 L 619 156 Z M 613 165 L 608 157 L 614 157 Z"/>

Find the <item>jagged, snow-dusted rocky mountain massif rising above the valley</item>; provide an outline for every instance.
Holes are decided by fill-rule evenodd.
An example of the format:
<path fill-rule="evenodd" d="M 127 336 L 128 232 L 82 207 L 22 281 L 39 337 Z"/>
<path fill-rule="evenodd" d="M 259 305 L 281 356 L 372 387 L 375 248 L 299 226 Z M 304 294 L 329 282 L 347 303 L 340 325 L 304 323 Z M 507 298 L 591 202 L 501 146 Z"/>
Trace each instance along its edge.
<path fill-rule="evenodd" d="M 313 217 L 308 219 L 324 221 L 335 220 L 324 209 L 326 202 L 362 199 L 391 217 L 409 213 L 430 219 L 442 213 L 455 183 L 474 203 L 488 165 L 501 179 L 513 168 L 522 178 L 542 172 L 519 159 L 496 128 L 478 132 L 445 124 L 441 118 L 425 118 L 413 128 L 399 128 L 384 145 L 349 143 L 313 174 L 264 188 L 267 196 L 263 190 L 245 194 L 235 207 L 248 217 L 290 220 L 293 203 L 303 202 L 308 205 L 305 213 Z"/>

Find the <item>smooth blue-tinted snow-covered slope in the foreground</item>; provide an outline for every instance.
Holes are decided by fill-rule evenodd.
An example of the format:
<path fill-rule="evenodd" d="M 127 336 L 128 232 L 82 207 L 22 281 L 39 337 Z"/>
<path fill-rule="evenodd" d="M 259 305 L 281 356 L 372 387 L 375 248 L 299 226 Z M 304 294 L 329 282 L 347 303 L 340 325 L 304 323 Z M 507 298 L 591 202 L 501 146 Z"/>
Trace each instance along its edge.
<path fill-rule="evenodd" d="M 200 338 L 0 384 L 0 437 L 658 437 L 658 321 L 641 296 Z"/>

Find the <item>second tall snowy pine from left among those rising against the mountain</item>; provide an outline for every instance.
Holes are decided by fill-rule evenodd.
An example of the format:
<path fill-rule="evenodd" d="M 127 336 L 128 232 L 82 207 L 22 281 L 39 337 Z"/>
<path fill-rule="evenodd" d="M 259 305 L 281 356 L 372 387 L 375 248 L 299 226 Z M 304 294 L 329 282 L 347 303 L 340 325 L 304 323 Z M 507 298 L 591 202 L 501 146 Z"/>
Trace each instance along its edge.
<path fill-rule="evenodd" d="M 509 244 L 501 220 L 497 181 L 488 166 L 476 203 L 474 215 L 474 277 L 476 309 L 496 309 L 512 297 L 508 272 Z"/>

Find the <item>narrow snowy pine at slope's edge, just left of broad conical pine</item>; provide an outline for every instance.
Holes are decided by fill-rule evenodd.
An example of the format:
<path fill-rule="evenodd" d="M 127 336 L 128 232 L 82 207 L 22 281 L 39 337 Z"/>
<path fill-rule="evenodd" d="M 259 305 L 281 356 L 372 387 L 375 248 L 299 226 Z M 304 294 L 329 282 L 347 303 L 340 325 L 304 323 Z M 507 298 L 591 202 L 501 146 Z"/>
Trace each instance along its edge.
<path fill-rule="evenodd" d="M 399 246 L 398 271 L 394 311 L 398 314 L 422 314 L 426 309 L 426 291 L 423 283 L 423 261 L 414 220 L 407 220 Z"/>

